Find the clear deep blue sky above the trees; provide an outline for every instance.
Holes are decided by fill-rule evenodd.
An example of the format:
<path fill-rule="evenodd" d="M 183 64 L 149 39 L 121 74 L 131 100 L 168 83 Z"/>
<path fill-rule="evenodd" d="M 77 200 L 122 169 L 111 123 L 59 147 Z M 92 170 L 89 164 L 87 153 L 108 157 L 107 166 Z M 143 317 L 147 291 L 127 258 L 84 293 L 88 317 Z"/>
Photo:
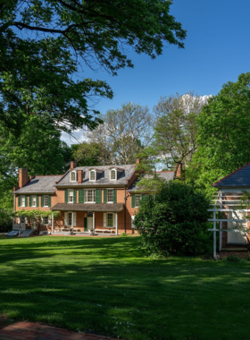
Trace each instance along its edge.
<path fill-rule="evenodd" d="M 187 30 L 185 49 L 169 45 L 154 60 L 130 52 L 134 69 L 120 70 L 116 77 L 83 72 L 85 78 L 107 81 L 114 92 L 96 109 L 105 113 L 129 101 L 153 108 L 161 96 L 191 90 L 216 95 L 225 82 L 250 71 L 249 13 L 249 0 L 173 0 L 171 14 Z M 82 132 L 76 136 L 81 140 Z M 65 135 L 63 140 L 70 143 Z"/>

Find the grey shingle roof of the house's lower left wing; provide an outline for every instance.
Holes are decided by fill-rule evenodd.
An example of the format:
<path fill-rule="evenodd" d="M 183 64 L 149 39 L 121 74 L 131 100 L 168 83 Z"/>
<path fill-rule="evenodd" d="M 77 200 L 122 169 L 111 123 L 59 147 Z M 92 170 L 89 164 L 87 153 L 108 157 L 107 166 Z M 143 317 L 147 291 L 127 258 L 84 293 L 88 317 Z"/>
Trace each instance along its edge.
<path fill-rule="evenodd" d="M 36 176 L 15 193 L 54 193 L 55 182 L 62 178 L 62 174 L 53 176 Z"/>

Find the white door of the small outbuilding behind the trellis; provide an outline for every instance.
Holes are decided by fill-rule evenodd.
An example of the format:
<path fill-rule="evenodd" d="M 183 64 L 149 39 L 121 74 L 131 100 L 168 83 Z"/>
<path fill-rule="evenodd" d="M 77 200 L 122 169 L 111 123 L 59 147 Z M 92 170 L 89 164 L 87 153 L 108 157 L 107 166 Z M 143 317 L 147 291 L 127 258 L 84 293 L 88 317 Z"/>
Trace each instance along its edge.
<path fill-rule="evenodd" d="M 231 207 L 236 208 L 237 207 Z M 243 211 L 229 211 L 229 219 L 245 219 L 246 217 L 244 216 Z M 228 222 L 228 228 L 233 229 L 237 228 L 239 226 L 244 226 L 246 228 L 246 222 L 234 222 L 234 221 L 229 221 Z M 240 230 L 234 230 L 231 232 L 228 232 L 228 243 L 237 243 L 237 244 L 246 244 L 246 233 L 241 232 Z"/>

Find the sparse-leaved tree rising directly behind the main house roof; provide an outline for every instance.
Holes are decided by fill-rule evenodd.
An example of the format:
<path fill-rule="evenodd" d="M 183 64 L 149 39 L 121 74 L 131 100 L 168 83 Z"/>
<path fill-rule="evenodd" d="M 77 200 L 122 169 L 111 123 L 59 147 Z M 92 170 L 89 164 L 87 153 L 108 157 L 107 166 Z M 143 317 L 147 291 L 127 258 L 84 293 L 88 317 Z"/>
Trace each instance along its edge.
<path fill-rule="evenodd" d="M 104 123 L 87 137 L 104 146 L 104 162 L 108 165 L 135 163 L 138 152 L 152 139 L 154 115 L 147 106 L 128 103 L 121 109 L 108 110 L 102 119 Z"/>

